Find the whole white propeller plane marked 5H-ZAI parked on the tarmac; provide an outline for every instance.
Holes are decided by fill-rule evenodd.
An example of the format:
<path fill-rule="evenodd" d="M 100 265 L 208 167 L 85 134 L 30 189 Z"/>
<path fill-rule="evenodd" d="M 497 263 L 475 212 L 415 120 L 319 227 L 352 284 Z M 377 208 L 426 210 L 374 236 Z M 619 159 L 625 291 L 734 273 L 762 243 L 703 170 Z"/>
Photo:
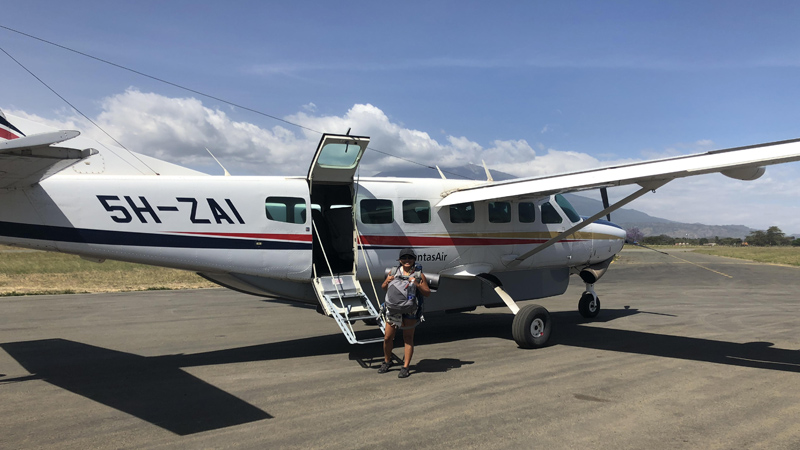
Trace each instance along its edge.
<path fill-rule="evenodd" d="M 1 115 L 1 114 L 0 114 Z M 434 293 L 426 311 L 507 305 L 520 347 L 546 345 L 547 310 L 515 299 L 586 290 L 625 243 L 603 216 L 671 180 L 754 180 L 800 160 L 800 140 L 510 181 L 355 178 L 368 137 L 325 134 L 308 174 L 210 176 L 23 118 L 0 117 L 0 243 L 197 272 L 227 288 L 318 305 L 350 343 L 383 322 L 374 286 L 413 247 Z M 637 185 L 592 217 L 561 195 Z M 372 285 L 371 289 L 365 287 Z M 359 332 L 360 334 L 360 332 Z"/>

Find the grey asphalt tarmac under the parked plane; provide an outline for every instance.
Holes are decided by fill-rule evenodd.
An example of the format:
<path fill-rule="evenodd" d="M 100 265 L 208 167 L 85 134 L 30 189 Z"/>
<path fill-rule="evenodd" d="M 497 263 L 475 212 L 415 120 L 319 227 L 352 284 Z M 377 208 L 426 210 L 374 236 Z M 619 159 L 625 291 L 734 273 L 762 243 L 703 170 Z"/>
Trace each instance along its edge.
<path fill-rule="evenodd" d="M 549 347 L 431 314 L 407 379 L 222 289 L 1 298 L 0 448 L 800 448 L 800 269 L 626 249 L 594 321 L 574 278 Z"/>

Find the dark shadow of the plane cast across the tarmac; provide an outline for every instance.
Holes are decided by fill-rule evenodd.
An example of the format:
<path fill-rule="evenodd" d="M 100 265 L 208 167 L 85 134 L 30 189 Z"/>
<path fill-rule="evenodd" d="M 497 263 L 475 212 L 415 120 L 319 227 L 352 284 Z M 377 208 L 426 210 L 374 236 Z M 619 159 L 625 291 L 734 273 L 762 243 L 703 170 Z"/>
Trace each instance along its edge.
<path fill-rule="evenodd" d="M 642 314 L 636 309 L 603 310 L 593 322 Z M 746 343 L 582 326 L 577 313 L 552 313 L 552 346 L 705 361 L 759 369 L 800 372 L 800 351 Z M 432 315 L 417 330 L 419 346 L 477 338 L 506 339 L 512 344 L 510 314 Z M 272 418 L 270 414 L 181 370 L 183 367 L 347 354 L 375 370 L 380 344 L 353 347 L 341 334 L 293 339 L 190 355 L 144 357 L 65 339 L 0 344 L 31 375 L 0 378 L 0 385 L 40 379 L 178 435 L 225 428 Z M 535 356 L 536 351 L 520 357 Z M 416 372 L 447 372 L 472 361 L 420 360 Z"/>

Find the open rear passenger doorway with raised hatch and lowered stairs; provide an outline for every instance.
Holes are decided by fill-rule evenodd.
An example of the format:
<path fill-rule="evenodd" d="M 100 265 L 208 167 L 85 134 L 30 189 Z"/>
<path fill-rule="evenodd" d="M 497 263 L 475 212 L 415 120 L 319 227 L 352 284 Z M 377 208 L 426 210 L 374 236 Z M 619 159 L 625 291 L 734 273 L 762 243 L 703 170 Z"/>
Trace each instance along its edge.
<path fill-rule="evenodd" d="M 313 228 L 314 291 L 322 312 L 336 320 L 351 344 L 383 340 L 382 337 L 358 339 L 352 327 L 356 320 L 379 321 L 375 306 L 356 279 L 358 248 L 353 177 L 367 145 L 367 137 L 322 135 L 307 177 Z"/>

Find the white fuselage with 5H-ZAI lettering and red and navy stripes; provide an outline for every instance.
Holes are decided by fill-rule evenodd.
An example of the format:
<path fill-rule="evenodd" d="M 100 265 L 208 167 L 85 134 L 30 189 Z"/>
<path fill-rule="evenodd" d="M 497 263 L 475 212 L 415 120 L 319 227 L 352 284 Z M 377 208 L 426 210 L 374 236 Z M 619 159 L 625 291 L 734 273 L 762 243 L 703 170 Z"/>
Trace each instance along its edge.
<path fill-rule="evenodd" d="M 474 205 L 472 222 L 452 223 L 449 207 L 435 205 L 443 192 L 467 184 L 475 182 L 357 180 L 352 191 L 358 232 L 353 233 L 352 219 L 347 219 L 349 235 L 342 232 L 347 227 L 331 230 L 335 236 L 325 239 L 333 240 L 334 245 L 327 251 L 344 254 L 355 249 L 358 278 L 381 280 L 384 269 L 397 264 L 398 250 L 413 247 L 425 273 L 441 274 L 443 290 L 450 286 L 451 293 L 458 292 L 455 280 L 465 281 L 461 284 L 466 293 L 458 294 L 465 297 L 463 301 L 443 301 L 441 308 L 433 307 L 455 309 L 496 301 L 490 293 L 470 300 L 469 291 L 477 286 L 470 279 L 478 273 L 497 274 L 501 279 L 506 273 L 506 283 L 523 282 L 517 289 L 511 287 L 529 293 L 519 298 L 554 295 L 563 292 L 562 287 L 566 289 L 561 280 L 565 270 L 568 274 L 570 268 L 606 260 L 623 245 L 623 230 L 595 223 L 509 270 L 508 262 L 514 257 L 572 223 L 557 206 L 554 209 L 561 223 L 543 223 L 541 214 L 533 222 L 523 223 L 517 214 L 517 200 L 510 202 L 510 217 L 501 222 L 489 217 L 489 202 L 479 202 Z M 302 206 L 295 208 L 302 210 L 302 216 L 291 221 L 269 217 L 265 205 L 276 198 L 300 200 Z M 373 218 L 365 223 L 364 200 L 390 205 L 391 221 L 369 223 L 375 222 Z M 428 221 L 407 222 L 404 201 L 428 202 Z M 537 208 L 545 202 L 555 205 L 552 197 L 528 202 Z M 191 270 L 234 289 L 315 302 L 308 288 L 314 276 L 312 266 L 317 264 L 320 270 L 324 264 L 315 260 L 312 249 L 318 235 L 313 232 L 313 214 L 306 213 L 315 208 L 320 209 L 314 206 L 308 181 L 301 177 L 64 173 L 27 189 L 0 191 L 0 242 Z M 325 215 L 352 218 L 350 211 L 349 205 L 343 204 L 326 210 Z M 378 221 L 386 214 L 385 209 L 378 212 Z M 359 235 L 362 245 L 354 245 Z M 543 272 L 537 272 L 539 269 Z M 536 277 L 549 279 L 554 273 L 559 278 L 558 288 L 537 292 Z M 365 290 L 373 294 L 366 286 Z"/>

